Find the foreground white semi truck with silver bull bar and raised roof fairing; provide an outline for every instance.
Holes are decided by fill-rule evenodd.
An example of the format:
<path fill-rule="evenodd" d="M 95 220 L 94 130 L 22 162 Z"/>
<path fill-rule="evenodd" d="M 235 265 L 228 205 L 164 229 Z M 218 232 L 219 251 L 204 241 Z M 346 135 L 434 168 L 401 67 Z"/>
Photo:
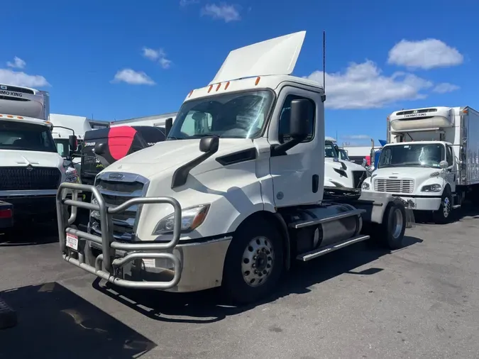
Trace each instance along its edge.
<path fill-rule="evenodd" d="M 114 162 L 94 185 L 62 184 L 63 258 L 122 287 L 221 286 L 247 303 L 272 292 L 292 260 L 370 236 L 400 248 L 412 223 L 402 200 L 324 201 L 324 87 L 291 76 L 305 34 L 231 51 L 189 92 L 168 140 Z M 91 203 L 65 198 L 70 189 L 92 192 Z M 71 224 L 78 207 L 91 210 L 87 232 Z"/>

